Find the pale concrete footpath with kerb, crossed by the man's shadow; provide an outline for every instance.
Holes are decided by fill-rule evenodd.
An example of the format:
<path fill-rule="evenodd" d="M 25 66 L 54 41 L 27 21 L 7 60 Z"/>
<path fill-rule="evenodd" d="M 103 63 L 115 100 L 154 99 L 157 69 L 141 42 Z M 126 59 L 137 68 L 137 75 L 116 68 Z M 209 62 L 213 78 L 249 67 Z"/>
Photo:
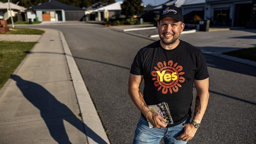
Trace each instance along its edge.
<path fill-rule="evenodd" d="M 43 30 L 0 90 L 0 144 L 109 144 L 63 34 Z"/>

